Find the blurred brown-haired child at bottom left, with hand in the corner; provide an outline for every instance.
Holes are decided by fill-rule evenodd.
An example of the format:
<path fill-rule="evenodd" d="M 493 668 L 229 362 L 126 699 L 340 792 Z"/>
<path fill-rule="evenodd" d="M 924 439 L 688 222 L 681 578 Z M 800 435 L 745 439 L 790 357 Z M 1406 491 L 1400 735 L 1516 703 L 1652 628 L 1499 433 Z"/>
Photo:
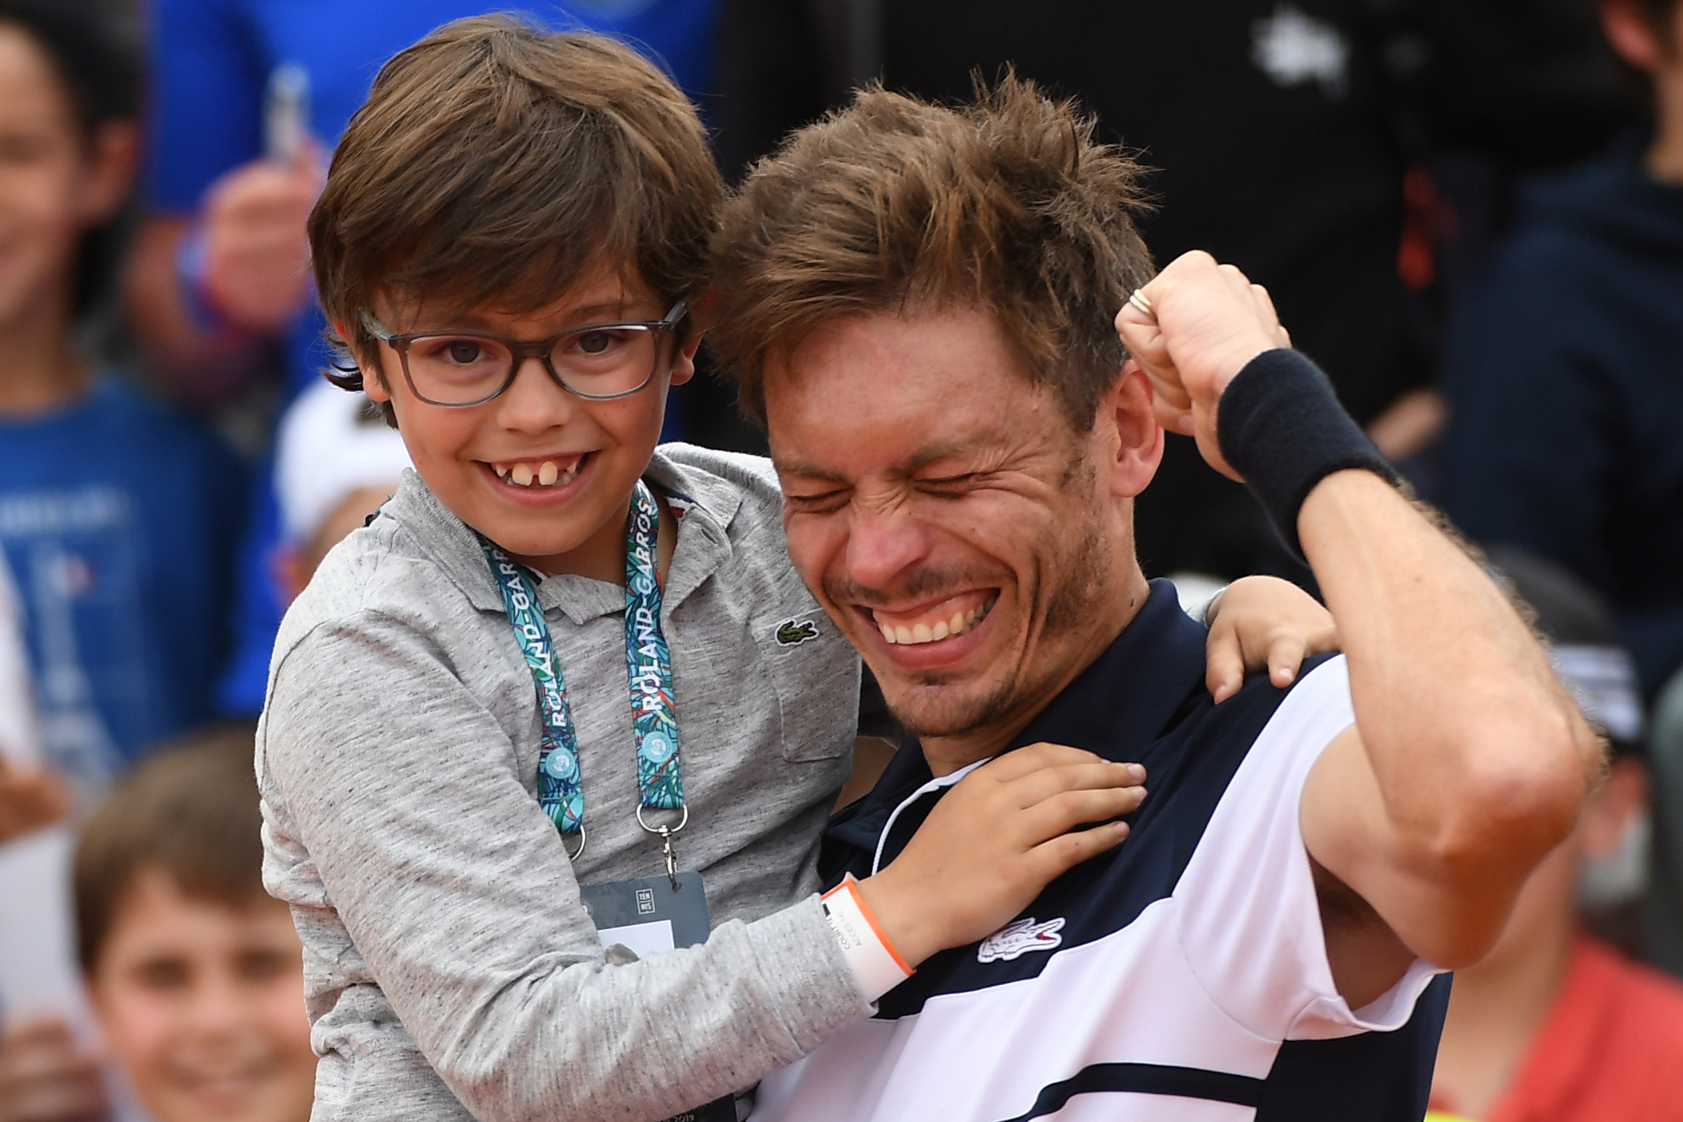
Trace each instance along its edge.
<path fill-rule="evenodd" d="M 104 1051 L 153 1122 L 305 1122 L 303 950 L 263 892 L 251 727 L 136 767 L 82 826 L 77 954 Z M 0 1119 L 96 1122 L 99 1068 L 57 1021 L 0 1045 Z"/>

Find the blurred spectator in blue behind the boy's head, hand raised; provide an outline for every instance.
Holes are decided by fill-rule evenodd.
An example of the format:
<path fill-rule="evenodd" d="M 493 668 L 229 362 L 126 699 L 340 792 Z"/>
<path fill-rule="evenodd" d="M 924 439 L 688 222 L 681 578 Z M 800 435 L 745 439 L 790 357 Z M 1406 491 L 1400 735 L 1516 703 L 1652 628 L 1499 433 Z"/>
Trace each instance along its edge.
<path fill-rule="evenodd" d="M 328 363 L 306 278 L 305 217 L 323 160 L 380 64 L 480 0 L 153 0 L 150 217 L 128 278 L 135 335 L 160 378 L 205 405 L 227 400 L 281 343 L 281 404 Z M 520 5 L 555 27 L 626 39 L 687 93 L 712 86 L 717 0 Z M 296 114 L 301 130 L 291 128 Z M 268 466 L 241 550 L 237 644 L 226 713 L 256 713 L 284 590 L 281 515 Z"/>

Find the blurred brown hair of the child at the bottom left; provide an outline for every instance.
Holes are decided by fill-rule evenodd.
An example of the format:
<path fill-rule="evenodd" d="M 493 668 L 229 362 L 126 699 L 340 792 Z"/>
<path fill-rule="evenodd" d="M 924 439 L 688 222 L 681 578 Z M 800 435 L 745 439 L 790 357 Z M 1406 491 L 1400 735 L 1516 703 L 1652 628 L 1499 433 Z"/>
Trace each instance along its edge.
<path fill-rule="evenodd" d="M 256 727 L 226 722 L 160 747 L 116 786 L 76 841 L 76 952 L 93 974 L 145 870 L 188 897 L 247 907 L 263 892 Z"/>

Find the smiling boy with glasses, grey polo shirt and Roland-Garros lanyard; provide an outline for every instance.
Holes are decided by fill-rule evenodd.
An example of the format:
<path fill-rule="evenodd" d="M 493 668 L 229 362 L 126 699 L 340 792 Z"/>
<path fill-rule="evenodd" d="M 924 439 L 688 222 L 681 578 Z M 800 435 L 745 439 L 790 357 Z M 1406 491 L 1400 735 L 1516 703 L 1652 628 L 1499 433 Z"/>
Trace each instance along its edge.
<path fill-rule="evenodd" d="M 895 945 L 993 930 L 1141 797 L 1052 745 L 1052 782 L 981 769 L 921 834 L 963 858 L 914 846 L 826 920 L 858 659 L 769 464 L 655 449 L 720 195 L 653 67 L 498 19 L 397 56 L 340 143 L 316 284 L 416 471 L 295 602 L 257 733 L 318 1119 L 735 1117 Z"/>

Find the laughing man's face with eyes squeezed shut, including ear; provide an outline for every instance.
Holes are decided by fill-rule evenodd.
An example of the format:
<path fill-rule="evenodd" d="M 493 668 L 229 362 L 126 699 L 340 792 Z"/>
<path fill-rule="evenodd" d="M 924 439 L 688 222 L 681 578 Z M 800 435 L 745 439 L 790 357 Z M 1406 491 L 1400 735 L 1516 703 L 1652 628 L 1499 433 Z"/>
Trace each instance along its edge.
<path fill-rule="evenodd" d="M 1025 720 L 1126 619 L 1118 426 L 1075 432 L 990 313 L 830 321 L 767 370 L 766 412 L 789 555 L 911 732 Z"/>

